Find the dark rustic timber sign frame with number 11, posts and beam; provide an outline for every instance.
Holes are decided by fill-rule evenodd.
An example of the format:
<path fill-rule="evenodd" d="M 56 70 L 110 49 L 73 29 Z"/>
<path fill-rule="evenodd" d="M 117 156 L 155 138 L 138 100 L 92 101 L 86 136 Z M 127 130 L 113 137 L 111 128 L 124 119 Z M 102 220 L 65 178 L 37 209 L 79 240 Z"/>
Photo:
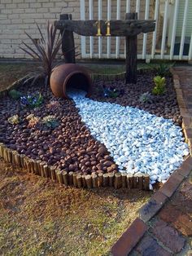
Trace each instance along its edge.
<path fill-rule="evenodd" d="M 72 20 L 71 14 L 60 15 L 55 26 L 63 33 L 62 51 L 66 63 L 75 63 L 73 32 L 81 36 L 125 37 L 126 83 L 137 82 L 137 35 L 155 30 L 155 20 L 137 20 L 137 13 L 126 13 L 125 20 Z"/>

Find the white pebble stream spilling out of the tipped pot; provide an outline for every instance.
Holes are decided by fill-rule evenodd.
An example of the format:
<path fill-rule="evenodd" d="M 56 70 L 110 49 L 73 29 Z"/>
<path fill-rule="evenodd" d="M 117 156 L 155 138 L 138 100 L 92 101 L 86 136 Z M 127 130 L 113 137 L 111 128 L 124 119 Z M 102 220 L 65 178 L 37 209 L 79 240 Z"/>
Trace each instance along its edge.
<path fill-rule="evenodd" d="M 91 135 L 103 143 L 120 171 L 150 174 L 151 184 L 165 182 L 189 154 L 181 127 L 138 108 L 123 107 L 70 92 Z"/>

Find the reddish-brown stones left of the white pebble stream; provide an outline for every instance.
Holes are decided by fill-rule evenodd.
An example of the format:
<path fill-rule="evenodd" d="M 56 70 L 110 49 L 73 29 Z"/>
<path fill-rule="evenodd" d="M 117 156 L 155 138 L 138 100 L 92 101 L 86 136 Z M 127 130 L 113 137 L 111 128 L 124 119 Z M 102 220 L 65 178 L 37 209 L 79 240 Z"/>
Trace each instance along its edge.
<path fill-rule="evenodd" d="M 20 86 L 25 95 L 33 91 L 41 92 L 44 103 L 40 108 L 23 108 L 20 101 L 8 96 L 0 102 L 0 141 L 7 147 L 17 150 L 36 160 L 46 161 L 50 166 L 61 170 L 89 174 L 93 171 L 113 171 L 115 163 L 109 156 L 107 148 L 95 140 L 89 129 L 81 121 L 78 110 L 72 100 L 58 99 L 52 95 L 50 88 L 43 86 Z M 52 102 L 56 104 L 52 104 Z M 28 127 L 26 117 L 55 115 L 59 126 L 50 129 L 46 126 Z M 18 125 L 11 125 L 7 118 L 15 114 L 20 116 Z M 107 162 L 107 166 L 101 164 Z M 111 169 L 107 169 L 111 167 Z"/>

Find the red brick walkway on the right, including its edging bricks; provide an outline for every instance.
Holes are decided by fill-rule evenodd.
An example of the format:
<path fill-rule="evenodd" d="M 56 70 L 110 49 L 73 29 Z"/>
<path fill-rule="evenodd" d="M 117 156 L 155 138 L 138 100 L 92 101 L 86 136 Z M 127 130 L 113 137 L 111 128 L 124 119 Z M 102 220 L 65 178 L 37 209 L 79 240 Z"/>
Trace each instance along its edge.
<path fill-rule="evenodd" d="M 192 151 L 192 67 L 172 70 L 185 139 Z M 192 157 L 140 210 L 113 245 L 114 256 L 192 256 Z"/>

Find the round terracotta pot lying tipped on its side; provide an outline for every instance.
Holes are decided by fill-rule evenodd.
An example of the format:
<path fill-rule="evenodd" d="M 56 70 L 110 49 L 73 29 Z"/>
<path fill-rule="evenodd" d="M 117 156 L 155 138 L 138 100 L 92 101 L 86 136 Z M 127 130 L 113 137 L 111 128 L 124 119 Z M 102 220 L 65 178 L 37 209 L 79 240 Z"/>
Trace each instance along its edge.
<path fill-rule="evenodd" d="M 92 82 L 86 68 L 77 64 L 61 64 L 50 75 L 50 88 L 56 97 L 70 99 L 70 88 L 85 90 L 86 97 L 91 95 Z"/>

